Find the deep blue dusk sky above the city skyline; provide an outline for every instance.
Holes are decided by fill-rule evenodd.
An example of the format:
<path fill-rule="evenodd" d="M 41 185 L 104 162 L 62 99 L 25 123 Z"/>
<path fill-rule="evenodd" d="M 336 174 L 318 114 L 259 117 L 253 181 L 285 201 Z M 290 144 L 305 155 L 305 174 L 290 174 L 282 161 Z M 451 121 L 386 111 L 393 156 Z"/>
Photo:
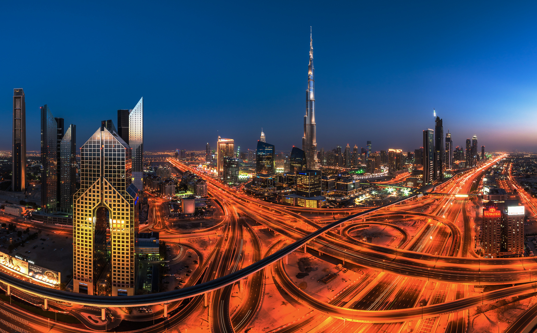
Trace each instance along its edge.
<path fill-rule="evenodd" d="M 302 144 L 313 26 L 317 147 L 413 150 L 433 108 L 455 145 L 537 151 L 535 2 L 3 2 L 0 149 L 13 88 L 77 125 L 144 97 L 146 150 Z M 67 126 L 66 126 L 67 127 Z"/>

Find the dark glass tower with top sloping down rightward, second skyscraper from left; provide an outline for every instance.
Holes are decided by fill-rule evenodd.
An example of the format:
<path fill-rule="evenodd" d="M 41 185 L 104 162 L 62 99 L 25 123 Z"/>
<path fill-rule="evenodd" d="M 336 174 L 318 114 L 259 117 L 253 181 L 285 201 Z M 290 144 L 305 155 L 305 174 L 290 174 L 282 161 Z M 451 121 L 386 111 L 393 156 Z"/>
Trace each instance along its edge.
<path fill-rule="evenodd" d="M 41 107 L 41 209 L 57 211 L 57 122 L 45 104 Z"/>

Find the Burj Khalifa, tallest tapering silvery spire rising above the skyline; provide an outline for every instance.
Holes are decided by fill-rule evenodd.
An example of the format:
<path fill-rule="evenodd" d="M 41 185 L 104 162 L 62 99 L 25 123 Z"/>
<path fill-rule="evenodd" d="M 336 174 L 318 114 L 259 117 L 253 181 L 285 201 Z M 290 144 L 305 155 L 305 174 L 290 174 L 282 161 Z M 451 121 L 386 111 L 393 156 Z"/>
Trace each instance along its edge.
<path fill-rule="evenodd" d="M 302 150 L 306 153 L 308 169 L 317 168 L 317 134 L 315 124 L 315 69 L 313 68 L 313 39 L 309 33 L 308 90 L 306 90 L 306 115 L 304 115 L 304 136 Z"/>

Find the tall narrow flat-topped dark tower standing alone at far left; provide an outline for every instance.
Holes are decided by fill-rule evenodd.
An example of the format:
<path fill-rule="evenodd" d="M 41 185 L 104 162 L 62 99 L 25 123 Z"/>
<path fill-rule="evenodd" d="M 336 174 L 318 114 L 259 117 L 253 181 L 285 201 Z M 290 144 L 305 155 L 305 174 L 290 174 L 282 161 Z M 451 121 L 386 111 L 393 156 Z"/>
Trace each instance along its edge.
<path fill-rule="evenodd" d="M 11 166 L 11 190 L 26 189 L 26 102 L 23 88 L 13 89 L 13 163 Z"/>

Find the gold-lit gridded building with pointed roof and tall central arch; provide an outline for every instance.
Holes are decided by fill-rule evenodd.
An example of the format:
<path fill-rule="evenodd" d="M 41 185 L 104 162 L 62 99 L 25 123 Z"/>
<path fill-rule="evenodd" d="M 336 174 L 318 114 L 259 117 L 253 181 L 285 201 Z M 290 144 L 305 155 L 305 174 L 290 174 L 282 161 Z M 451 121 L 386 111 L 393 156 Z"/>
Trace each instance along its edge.
<path fill-rule="evenodd" d="M 73 291 L 134 295 L 140 201 L 132 183 L 133 150 L 106 125 L 101 122 L 80 150 L 81 188 L 73 196 Z"/>

